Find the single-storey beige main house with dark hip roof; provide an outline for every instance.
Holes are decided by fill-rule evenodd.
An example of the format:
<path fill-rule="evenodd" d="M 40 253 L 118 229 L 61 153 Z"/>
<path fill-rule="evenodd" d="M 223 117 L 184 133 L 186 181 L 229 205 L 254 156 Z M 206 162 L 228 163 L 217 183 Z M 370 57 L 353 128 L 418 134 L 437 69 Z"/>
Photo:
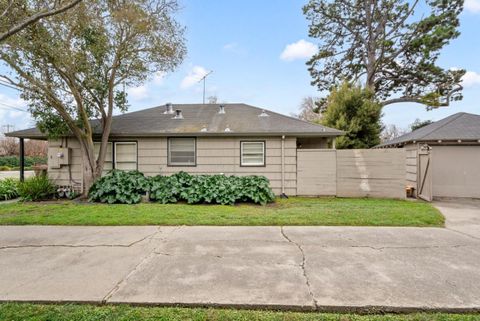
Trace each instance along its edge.
<path fill-rule="evenodd" d="M 93 127 L 94 140 L 100 140 L 98 122 Z M 245 104 L 166 104 L 113 117 L 104 172 L 264 175 L 277 195 L 296 195 L 297 148 L 335 148 L 342 134 Z M 36 128 L 9 136 L 47 139 Z M 49 177 L 59 186 L 82 189 L 78 141 L 69 136 L 48 142 Z"/>

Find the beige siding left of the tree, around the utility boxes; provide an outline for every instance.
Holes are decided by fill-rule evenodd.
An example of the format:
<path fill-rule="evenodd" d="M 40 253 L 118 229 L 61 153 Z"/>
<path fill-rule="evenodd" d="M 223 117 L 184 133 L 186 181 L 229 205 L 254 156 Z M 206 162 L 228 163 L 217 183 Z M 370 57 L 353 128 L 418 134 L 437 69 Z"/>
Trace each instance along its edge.
<path fill-rule="evenodd" d="M 64 138 L 49 140 L 48 147 L 68 147 L 70 148 L 70 166 L 61 166 L 60 168 L 51 168 L 49 160 L 48 176 L 57 185 L 74 186 L 77 189 L 82 187 L 82 154 L 80 144 L 76 139 Z M 56 157 L 49 153 L 49 159 Z"/>

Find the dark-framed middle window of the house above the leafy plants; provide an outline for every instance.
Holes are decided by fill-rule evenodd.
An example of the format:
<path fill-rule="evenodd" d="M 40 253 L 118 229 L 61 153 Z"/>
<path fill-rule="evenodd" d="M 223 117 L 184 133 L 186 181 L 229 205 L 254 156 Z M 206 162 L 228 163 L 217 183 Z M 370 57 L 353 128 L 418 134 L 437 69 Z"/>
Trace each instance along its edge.
<path fill-rule="evenodd" d="M 169 166 L 195 166 L 196 156 L 195 138 L 182 137 L 168 139 Z"/>

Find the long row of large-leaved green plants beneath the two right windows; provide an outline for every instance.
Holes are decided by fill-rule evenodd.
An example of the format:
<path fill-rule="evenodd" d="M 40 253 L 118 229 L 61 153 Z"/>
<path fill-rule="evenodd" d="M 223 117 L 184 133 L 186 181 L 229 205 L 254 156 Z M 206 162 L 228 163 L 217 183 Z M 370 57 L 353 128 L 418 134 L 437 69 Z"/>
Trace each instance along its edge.
<path fill-rule="evenodd" d="M 186 201 L 189 204 L 266 204 L 275 195 L 263 176 L 190 175 L 180 172 L 150 179 L 150 200 L 160 203 Z"/>

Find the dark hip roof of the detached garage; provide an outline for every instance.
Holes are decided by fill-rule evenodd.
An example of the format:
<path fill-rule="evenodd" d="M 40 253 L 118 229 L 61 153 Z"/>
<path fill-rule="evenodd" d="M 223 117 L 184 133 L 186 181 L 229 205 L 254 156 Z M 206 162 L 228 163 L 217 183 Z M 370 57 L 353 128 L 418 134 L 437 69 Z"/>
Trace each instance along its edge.
<path fill-rule="evenodd" d="M 480 115 L 456 113 L 376 147 L 404 145 L 413 141 L 478 141 L 479 139 Z"/>

